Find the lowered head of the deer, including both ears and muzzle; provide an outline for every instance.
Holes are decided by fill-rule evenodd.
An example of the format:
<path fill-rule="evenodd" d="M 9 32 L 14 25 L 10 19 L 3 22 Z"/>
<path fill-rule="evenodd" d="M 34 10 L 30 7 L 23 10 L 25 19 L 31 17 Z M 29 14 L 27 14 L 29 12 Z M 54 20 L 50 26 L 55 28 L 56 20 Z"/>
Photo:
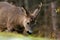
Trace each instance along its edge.
<path fill-rule="evenodd" d="M 32 13 L 28 12 L 28 11 L 25 9 L 26 16 L 25 16 L 25 19 L 24 19 L 24 27 L 25 27 L 25 30 L 26 30 L 28 33 L 32 33 L 32 28 L 30 27 L 30 24 L 31 24 L 31 22 L 33 21 L 33 19 L 36 18 L 36 16 L 37 16 L 38 13 L 40 12 L 41 7 L 42 7 L 42 3 L 41 3 L 41 4 L 38 6 L 38 8 L 36 8 Z"/>

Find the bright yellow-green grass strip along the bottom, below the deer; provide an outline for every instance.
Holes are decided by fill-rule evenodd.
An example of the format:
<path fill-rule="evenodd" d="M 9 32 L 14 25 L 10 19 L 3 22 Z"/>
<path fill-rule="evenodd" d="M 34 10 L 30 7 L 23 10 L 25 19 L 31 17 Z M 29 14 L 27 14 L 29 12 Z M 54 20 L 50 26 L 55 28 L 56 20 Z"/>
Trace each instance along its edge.
<path fill-rule="evenodd" d="M 33 37 L 30 35 L 24 36 L 22 34 L 17 34 L 17 33 L 1 32 L 0 33 L 0 40 L 55 40 L 55 39 Z"/>

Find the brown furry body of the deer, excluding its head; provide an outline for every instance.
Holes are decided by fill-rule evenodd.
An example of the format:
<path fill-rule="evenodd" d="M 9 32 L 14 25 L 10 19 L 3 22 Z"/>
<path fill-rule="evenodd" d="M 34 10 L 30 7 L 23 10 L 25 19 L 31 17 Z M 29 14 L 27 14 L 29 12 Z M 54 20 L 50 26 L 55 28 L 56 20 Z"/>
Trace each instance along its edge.
<path fill-rule="evenodd" d="M 16 7 L 7 2 L 0 2 L 0 28 L 9 31 L 16 25 L 23 26 L 26 12 L 22 7 Z"/>

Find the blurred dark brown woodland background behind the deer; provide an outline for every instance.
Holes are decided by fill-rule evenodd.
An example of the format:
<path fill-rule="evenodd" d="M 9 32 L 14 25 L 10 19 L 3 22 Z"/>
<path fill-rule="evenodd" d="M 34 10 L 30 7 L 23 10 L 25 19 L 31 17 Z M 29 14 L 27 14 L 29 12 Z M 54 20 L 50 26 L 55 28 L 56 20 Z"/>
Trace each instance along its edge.
<path fill-rule="evenodd" d="M 41 37 L 60 37 L 60 0 L 0 0 L 7 1 L 16 6 L 24 6 L 33 12 L 42 2 L 43 6 L 36 18 L 33 35 Z"/>

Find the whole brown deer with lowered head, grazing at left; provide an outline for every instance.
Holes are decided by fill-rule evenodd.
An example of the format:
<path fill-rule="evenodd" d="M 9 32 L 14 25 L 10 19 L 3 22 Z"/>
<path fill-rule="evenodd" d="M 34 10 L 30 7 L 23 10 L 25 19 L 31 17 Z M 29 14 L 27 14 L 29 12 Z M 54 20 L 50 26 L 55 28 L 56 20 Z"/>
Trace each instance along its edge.
<path fill-rule="evenodd" d="M 0 29 L 10 32 L 17 27 L 16 25 L 20 25 L 24 27 L 25 32 L 33 33 L 30 23 L 36 18 L 41 7 L 42 3 L 31 13 L 24 7 L 17 7 L 8 2 L 0 2 Z"/>

